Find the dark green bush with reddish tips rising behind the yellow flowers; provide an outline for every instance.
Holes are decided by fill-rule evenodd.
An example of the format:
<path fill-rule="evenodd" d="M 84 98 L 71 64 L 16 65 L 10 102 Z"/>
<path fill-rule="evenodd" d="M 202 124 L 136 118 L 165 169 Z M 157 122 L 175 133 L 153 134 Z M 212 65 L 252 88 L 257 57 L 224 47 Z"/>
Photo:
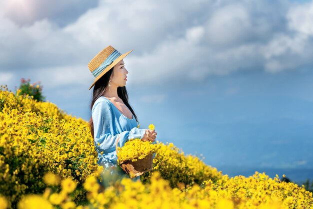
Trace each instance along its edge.
<path fill-rule="evenodd" d="M 28 95 L 29 97 L 32 96 L 32 99 L 37 100 L 39 102 L 43 102 L 45 97 L 42 96 L 42 86 L 40 86 L 40 81 L 37 83 L 30 84 L 30 79 L 28 78 L 25 80 L 24 78 L 20 79 L 20 94 L 21 95 Z M 17 89 L 16 89 L 17 94 Z"/>

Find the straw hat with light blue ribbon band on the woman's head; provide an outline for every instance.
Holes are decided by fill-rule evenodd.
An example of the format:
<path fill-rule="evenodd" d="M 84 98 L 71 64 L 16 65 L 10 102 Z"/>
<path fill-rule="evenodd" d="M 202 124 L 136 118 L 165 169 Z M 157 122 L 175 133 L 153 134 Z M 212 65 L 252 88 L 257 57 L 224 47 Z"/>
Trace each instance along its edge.
<path fill-rule="evenodd" d="M 107 71 L 109 71 L 114 65 L 120 60 L 126 57 L 132 50 L 125 54 L 120 54 L 110 45 L 99 52 L 92 60 L 88 63 L 88 68 L 95 80 L 91 84 L 89 90 L 94 86 L 95 82 L 99 80 Z"/>

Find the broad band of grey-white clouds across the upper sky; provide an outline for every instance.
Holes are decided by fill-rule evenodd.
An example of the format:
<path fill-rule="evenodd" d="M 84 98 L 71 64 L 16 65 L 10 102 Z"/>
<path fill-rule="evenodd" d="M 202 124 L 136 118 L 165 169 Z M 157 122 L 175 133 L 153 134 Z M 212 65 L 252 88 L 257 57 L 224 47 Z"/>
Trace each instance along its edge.
<path fill-rule="evenodd" d="M 312 28 L 313 3 L 285 10 L 288 5 L 277 2 L 273 7 L 279 12 L 267 4 L 272 3 L 100 1 L 64 27 L 53 22 L 54 15 L 37 16 L 24 26 L 2 16 L 0 69 L 16 75 L 49 71 L 58 85 L 84 85 L 85 78 L 93 79 L 88 62 L 107 45 L 121 53 L 134 50 L 125 58 L 133 85 L 198 82 L 238 70 L 275 73 L 313 64 L 307 29 Z M 72 77 L 71 66 L 78 66 L 79 75 Z M 63 78 L 57 74 L 62 70 Z"/>

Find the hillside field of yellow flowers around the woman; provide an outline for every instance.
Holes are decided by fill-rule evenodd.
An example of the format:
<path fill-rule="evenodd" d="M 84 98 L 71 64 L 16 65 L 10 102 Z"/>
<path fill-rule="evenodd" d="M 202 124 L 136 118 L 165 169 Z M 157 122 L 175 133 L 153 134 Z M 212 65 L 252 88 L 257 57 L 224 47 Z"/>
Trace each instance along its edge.
<path fill-rule="evenodd" d="M 86 121 L 0 89 L 2 208 L 313 208 L 312 193 L 265 173 L 229 178 L 157 142 L 141 181 L 107 180 Z"/>

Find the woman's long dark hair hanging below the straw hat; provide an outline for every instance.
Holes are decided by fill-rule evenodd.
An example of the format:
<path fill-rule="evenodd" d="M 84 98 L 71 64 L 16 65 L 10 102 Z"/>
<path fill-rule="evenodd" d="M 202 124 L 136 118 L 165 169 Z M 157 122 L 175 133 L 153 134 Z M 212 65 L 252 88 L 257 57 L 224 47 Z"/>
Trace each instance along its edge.
<path fill-rule="evenodd" d="M 93 107 L 95 100 L 97 100 L 100 96 L 103 96 L 103 93 L 106 89 L 106 86 L 108 84 L 108 80 L 111 76 L 112 71 L 113 71 L 113 68 L 111 68 L 109 71 L 107 71 L 103 76 L 101 76 L 101 78 L 99 80 L 97 80 L 95 82 L 95 84 L 93 86 L 92 99 L 91 99 L 91 103 L 90 103 L 90 110 L 92 110 L 92 107 Z M 126 90 L 125 86 L 117 87 L 117 96 L 128 107 L 128 109 L 131 111 L 131 113 L 135 117 L 136 121 L 138 122 L 136 114 L 134 113 L 134 111 L 132 110 L 132 108 L 130 107 L 130 105 L 128 103 L 128 94 L 127 94 L 127 90 Z M 92 116 L 90 117 L 88 125 L 90 128 L 92 138 L 94 139 Z"/>

